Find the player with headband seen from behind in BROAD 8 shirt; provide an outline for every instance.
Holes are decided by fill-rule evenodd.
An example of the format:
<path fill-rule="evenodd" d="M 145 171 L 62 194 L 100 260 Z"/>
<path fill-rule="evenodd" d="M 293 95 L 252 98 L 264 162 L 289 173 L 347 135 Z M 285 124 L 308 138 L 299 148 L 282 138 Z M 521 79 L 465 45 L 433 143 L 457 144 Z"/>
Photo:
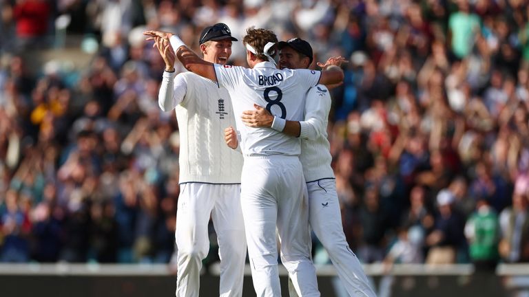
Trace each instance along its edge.
<path fill-rule="evenodd" d="M 163 39 L 170 56 L 172 45 L 164 36 L 149 31 L 145 34 L 152 39 Z M 277 37 L 264 29 L 251 27 L 243 39 L 251 69 L 208 63 L 198 58 L 176 36 L 171 39 L 176 56 L 187 69 L 216 81 L 219 87 L 226 87 L 234 113 L 241 114 L 253 108 L 253 104 L 260 104 L 280 115 L 273 123 L 276 130 L 247 127 L 236 118 L 245 159 L 241 204 L 253 287 L 257 296 L 281 296 L 277 226 L 282 263 L 289 271 L 295 291 L 300 296 L 320 296 L 311 261 L 307 186 L 299 160 L 300 142 L 298 138 L 277 130 L 282 130 L 280 126 L 284 126 L 286 120 L 302 120 L 304 104 L 300 102 L 304 102 L 304 94 L 310 87 L 317 85 L 318 81 L 340 83 L 343 72 L 277 69 L 273 61 Z M 340 59 L 337 63 L 341 64 Z"/>

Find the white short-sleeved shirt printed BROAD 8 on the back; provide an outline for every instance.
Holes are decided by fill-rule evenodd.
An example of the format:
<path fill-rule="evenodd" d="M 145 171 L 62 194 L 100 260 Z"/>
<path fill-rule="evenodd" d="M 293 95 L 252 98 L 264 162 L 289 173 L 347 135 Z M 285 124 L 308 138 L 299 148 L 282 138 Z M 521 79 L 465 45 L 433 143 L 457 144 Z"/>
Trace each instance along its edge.
<path fill-rule="evenodd" d="M 309 69 L 277 69 L 271 62 L 258 63 L 253 69 L 215 65 L 220 87 L 225 87 L 234 106 L 240 148 L 244 155 L 300 155 L 300 141 L 271 128 L 245 126 L 242 111 L 253 104 L 265 107 L 286 120 L 303 119 L 305 94 L 320 80 L 320 72 Z"/>

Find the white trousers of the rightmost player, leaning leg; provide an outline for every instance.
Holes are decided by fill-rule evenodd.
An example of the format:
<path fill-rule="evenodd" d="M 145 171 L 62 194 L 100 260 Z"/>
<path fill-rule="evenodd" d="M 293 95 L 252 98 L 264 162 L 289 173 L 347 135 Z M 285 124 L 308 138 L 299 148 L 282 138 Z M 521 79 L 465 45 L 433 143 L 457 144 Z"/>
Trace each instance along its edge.
<path fill-rule="evenodd" d="M 376 297 L 369 281 L 345 239 L 340 202 L 334 179 L 320 179 L 307 184 L 310 204 L 310 223 L 351 296 Z"/>

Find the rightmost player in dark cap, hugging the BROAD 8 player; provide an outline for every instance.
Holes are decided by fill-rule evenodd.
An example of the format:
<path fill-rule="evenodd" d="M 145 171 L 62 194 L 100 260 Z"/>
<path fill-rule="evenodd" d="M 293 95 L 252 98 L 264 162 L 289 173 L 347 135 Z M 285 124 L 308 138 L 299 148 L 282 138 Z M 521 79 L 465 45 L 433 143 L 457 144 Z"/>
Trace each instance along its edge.
<path fill-rule="evenodd" d="M 307 69 L 311 65 L 313 51 L 307 41 L 294 38 L 281 41 L 278 47 L 281 69 Z M 326 67 L 327 64 L 321 66 Z M 329 90 L 324 85 L 312 87 L 305 100 L 304 120 L 287 121 L 283 132 L 302 139 L 300 161 L 309 191 L 311 228 L 329 253 L 346 291 L 350 296 L 375 297 L 360 261 L 349 248 L 342 227 L 326 131 L 330 110 Z M 273 120 L 274 115 L 258 105 L 256 109 L 242 113 L 242 122 L 251 127 L 271 127 Z M 232 148 L 236 146 L 234 129 L 226 129 L 226 140 Z"/>

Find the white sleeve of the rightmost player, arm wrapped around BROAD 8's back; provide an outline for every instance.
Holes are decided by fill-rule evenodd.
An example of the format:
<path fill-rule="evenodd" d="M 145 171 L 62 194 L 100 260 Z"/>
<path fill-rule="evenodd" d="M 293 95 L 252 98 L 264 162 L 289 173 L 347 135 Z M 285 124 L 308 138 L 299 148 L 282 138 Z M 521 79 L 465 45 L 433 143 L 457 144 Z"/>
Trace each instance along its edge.
<path fill-rule="evenodd" d="M 326 132 L 326 120 L 331 111 L 331 95 L 323 85 L 312 87 L 305 100 L 305 119 L 300 122 L 300 137 L 316 140 Z"/>

